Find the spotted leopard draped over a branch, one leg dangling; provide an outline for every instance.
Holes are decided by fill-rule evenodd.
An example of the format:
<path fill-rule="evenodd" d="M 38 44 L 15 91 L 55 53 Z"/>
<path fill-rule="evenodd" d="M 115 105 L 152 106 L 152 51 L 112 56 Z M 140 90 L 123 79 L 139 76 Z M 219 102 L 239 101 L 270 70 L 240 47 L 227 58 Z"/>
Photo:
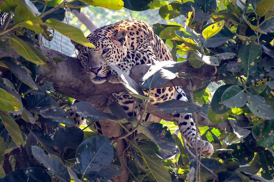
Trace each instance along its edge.
<path fill-rule="evenodd" d="M 95 48 L 85 47 L 74 41 L 71 41 L 78 50 L 77 58 L 86 73 L 86 76 L 94 84 L 120 83 L 121 78 L 110 65 L 115 65 L 125 74 L 129 75 L 133 66 L 139 64 L 150 64 L 154 61 L 174 61 L 172 55 L 163 42 L 155 34 L 153 28 L 145 21 L 137 19 L 127 19 L 111 25 L 105 25 L 97 28 L 87 36 L 87 40 L 95 45 Z M 148 96 L 148 90 L 143 89 L 144 95 Z M 116 101 L 123 106 L 128 116 L 139 116 L 136 99 L 128 92 L 113 93 Z M 157 106 L 167 100 L 187 101 L 186 93 L 180 86 L 164 87 L 151 89 L 149 103 Z M 195 142 L 196 130 L 191 113 L 172 113 L 180 133 L 186 142 L 194 150 L 203 156 L 213 154 L 213 145 L 202 140 L 200 135 Z M 79 127 L 85 119 L 79 116 L 75 111 L 70 111 L 70 116 L 75 120 L 73 127 Z M 160 122 L 161 118 L 147 113 L 142 118 L 144 122 Z M 102 135 L 100 123 L 95 122 L 96 130 Z"/>

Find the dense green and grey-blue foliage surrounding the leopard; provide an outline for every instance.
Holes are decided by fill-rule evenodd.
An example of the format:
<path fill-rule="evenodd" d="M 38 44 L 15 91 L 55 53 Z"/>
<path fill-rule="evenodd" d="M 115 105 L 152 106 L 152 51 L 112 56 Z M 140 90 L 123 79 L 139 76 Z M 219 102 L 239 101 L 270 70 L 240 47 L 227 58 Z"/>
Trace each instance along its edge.
<path fill-rule="evenodd" d="M 135 138 L 125 136 L 130 181 L 184 181 L 191 167 L 196 167 L 174 122 L 151 124 L 135 116 L 123 117 L 125 111 L 117 103 L 112 105 L 112 114 L 98 111 L 88 102 L 72 104 L 73 99 L 54 90 L 52 83 L 36 81 L 38 65 L 49 69 L 46 56 L 37 46 L 40 36 L 52 40 L 54 32 L 60 32 L 79 44 L 94 47 L 81 30 L 62 22 L 68 8 L 80 11 L 85 6 L 159 9 L 159 16 L 166 20 L 185 16 L 184 22 L 153 25 L 178 62 L 154 62 L 139 83 L 116 66 L 112 68 L 123 75 L 123 86 L 143 104 L 140 114 L 144 116 L 149 98 L 140 86 L 150 90 L 175 77 L 192 78 L 178 73 L 184 58 L 194 68 L 215 67 L 209 80 L 194 87 L 194 102 L 199 105 L 171 100 L 159 104 L 156 110 L 198 112 L 215 124 L 229 119 L 229 131 L 199 128 L 202 139 L 215 149 L 212 157 L 202 157 L 201 163 L 220 182 L 273 179 L 272 0 L 4 0 L 0 1 L 0 48 L 7 52 L 11 46 L 20 57 L 0 57 L 4 70 L 0 72 L 0 181 L 111 181 L 122 173 L 115 142 L 89 129 L 62 127 L 74 123 L 68 116 L 70 108 L 89 122 L 111 119 L 125 130 L 123 124 L 138 129 L 140 134 Z M 207 88 L 212 81 L 222 82 L 213 96 Z M 55 131 L 57 126 L 59 130 Z M 214 180 L 203 167 L 201 177 L 201 181 Z"/>

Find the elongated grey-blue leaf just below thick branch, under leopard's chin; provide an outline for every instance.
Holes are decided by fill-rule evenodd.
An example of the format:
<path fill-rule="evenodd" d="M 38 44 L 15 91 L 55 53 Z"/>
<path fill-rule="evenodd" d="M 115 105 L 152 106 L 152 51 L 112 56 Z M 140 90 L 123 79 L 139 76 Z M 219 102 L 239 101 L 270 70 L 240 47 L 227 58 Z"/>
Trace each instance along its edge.
<path fill-rule="evenodd" d="M 104 113 L 98 111 L 89 102 L 77 102 L 71 106 L 71 109 L 77 112 L 81 117 L 92 119 L 92 120 L 102 120 L 102 119 L 114 119 L 117 118 L 109 113 Z"/>

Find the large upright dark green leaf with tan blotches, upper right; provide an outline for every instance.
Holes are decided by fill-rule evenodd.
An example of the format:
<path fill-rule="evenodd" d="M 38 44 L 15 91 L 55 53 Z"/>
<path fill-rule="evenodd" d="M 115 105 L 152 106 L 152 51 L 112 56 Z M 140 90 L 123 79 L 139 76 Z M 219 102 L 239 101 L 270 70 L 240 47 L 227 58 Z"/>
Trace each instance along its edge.
<path fill-rule="evenodd" d="M 262 47 L 256 42 L 256 37 L 251 36 L 245 40 L 238 52 L 237 63 L 244 68 L 244 73 L 249 76 L 250 71 L 256 68 L 262 55 Z"/>

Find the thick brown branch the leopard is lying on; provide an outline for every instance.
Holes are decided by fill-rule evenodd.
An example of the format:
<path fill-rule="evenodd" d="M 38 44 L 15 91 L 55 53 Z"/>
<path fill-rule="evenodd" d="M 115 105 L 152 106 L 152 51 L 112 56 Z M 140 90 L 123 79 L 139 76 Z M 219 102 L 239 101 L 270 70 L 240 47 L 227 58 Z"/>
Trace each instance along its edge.
<path fill-rule="evenodd" d="M 47 47 L 41 47 L 42 53 L 48 60 L 49 71 L 43 67 L 39 67 L 40 81 L 53 82 L 55 89 L 61 93 L 64 93 L 70 97 L 78 100 L 85 100 L 94 105 L 94 107 L 104 107 L 107 103 L 107 94 L 118 93 L 126 91 L 121 84 L 93 84 L 88 78 L 84 77 L 80 62 L 78 59 L 64 55 L 58 51 L 54 51 Z M 17 58 L 18 54 L 14 49 L 10 47 L 9 52 L 0 50 L 1 56 L 10 56 Z M 62 63 L 53 61 L 52 58 L 65 59 Z M 148 71 L 149 65 L 137 65 L 131 69 L 130 77 L 136 82 Z M 195 75 L 195 78 L 191 78 L 194 86 L 201 84 L 203 81 L 211 79 L 211 73 L 214 70 L 213 66 L 205 65 L 200 69 L 194 69 L 186 61 L 179 64 L 178 71 L 186 72 L 188 74 Z M 185 86 L 188 85 L 187 79 L 175 78 L 172 82 L 167 82 L 163 86 Z M 148 111 L 155 110 L 155 106 L 149 105 Z M 174 120 L 171 114 L 160 113 L 158 111 L 152 112 L 155 116 L 163 118 L 167 121 Z M 213 124 L 208 119 L 198 115 L 199 124 L 219 128 L 221 130 L 230 130 L 228 121 L 224 121 L 220 124 Z"/>

